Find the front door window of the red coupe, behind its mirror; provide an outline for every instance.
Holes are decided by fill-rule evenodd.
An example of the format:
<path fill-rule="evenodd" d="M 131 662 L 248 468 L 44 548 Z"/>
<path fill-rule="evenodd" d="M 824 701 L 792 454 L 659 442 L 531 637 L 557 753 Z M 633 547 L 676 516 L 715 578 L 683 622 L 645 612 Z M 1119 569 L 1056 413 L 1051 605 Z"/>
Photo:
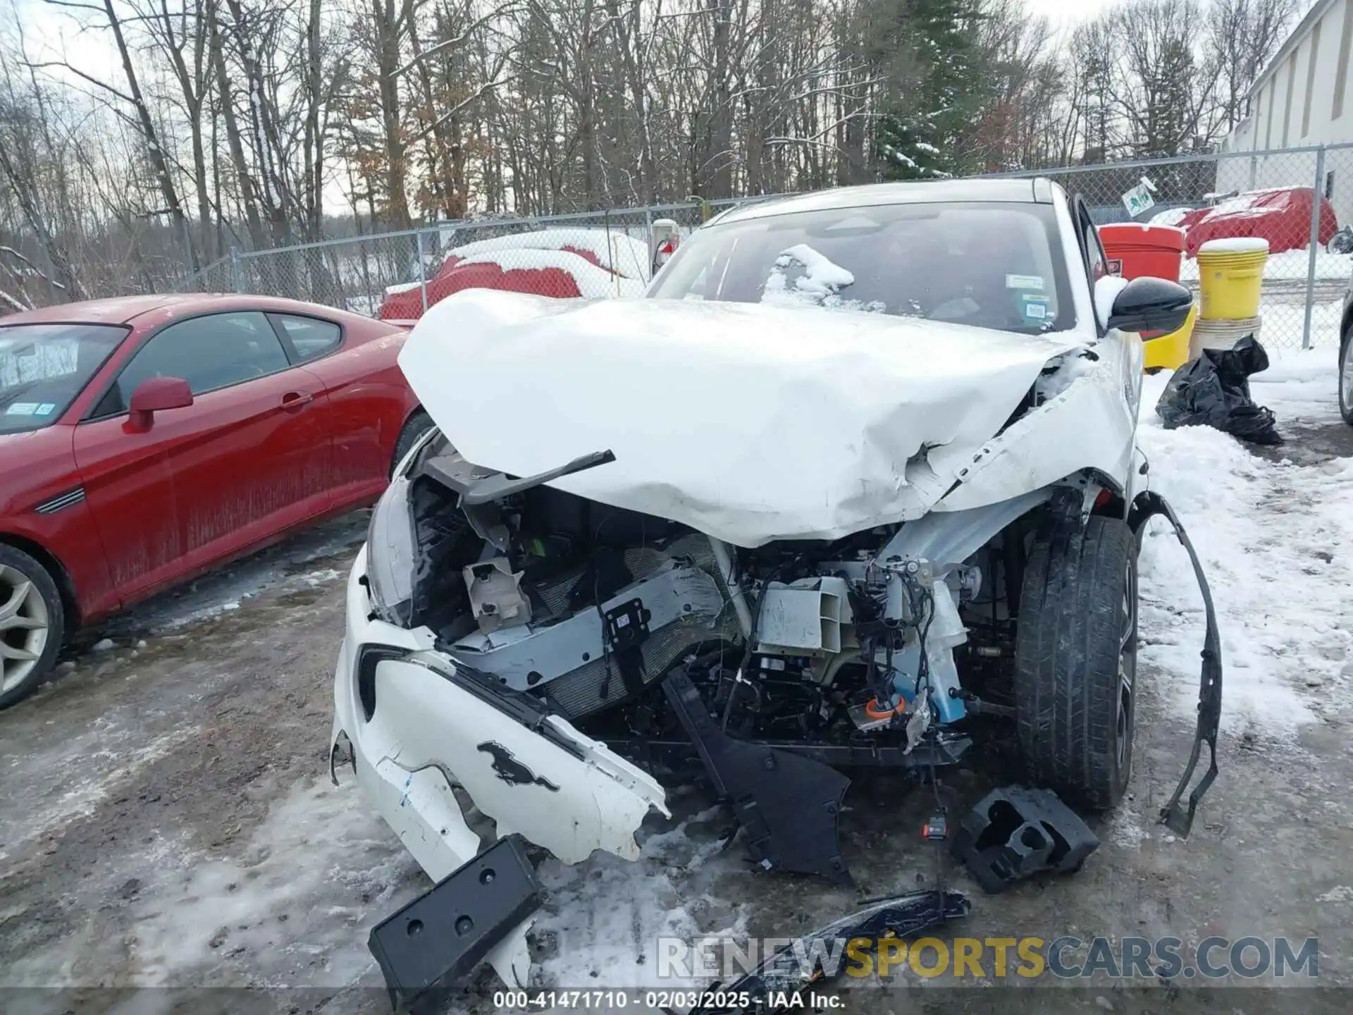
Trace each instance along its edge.
<path fill-rule="evenodd" d="M 268 318 L 258 313 L 211 314 L 160 332 L 131 357 L 95 411 L 127 411 L 131 392 L 149 378 L 183 378 L 200 395 L 291 367 Z"/>

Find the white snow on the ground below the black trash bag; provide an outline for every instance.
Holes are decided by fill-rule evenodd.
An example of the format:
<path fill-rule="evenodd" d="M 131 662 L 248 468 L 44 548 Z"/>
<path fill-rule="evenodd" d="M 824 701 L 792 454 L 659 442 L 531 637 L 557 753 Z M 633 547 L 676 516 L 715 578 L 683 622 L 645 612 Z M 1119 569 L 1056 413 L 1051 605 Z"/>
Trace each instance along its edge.
<path fill-rule="evenodd" d="M 1277 380 L 1277 378 L 1285 378 Z M 1147 378 L 1138 444 L 1150 484 L 1174 506 L 1212 590 L 1222 635 L 1222 725 L 1287 738 L 1325 708 L 1348 704 L 1353 624 L 1353 460 L 1272 463 L 1210 428 L 1166 430 L 1155 415 L 1166 375 Z M 1260 402 L 1287 383 L 1323 384 L 1315 361 L 1256 386 Z M 1314 399 L 1314 388 L 1304 397 Z M 1281 421 L 1280 421 L 1281 422 Z M 1153 520 L 1142 545 L 1141 663 L 1162 674 L 1176 712 L 1196 716 L 1201 597 L 1184 548 Z M 1329 698 L 1333 697 L 1333 701 Z"/>

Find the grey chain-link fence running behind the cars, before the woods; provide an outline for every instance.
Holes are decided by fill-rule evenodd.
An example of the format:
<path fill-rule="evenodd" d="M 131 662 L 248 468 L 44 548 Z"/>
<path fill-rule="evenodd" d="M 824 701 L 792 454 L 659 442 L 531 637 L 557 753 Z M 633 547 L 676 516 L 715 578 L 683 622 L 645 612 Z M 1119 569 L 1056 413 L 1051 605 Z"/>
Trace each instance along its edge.
<path fill-rule="evenodd" d="M 1080 195 L 1096 225 L 1185 229 L 1180 280 L 1197 290 L 1206 240 L 1269 242 L 1260 302 L 1269 348 L 1338 340 L 1353 277 L 1353 145 L 1222 152 L 1178 158 L 1039 169 Z M 413 322 L 461 288 L 549 296 L 637 295 L 647 283 L 655 225 L 689 235 L 718 211 L 766 198 L 690 202 L 574 215 L 440 222 L 403 233 L 272 250 L 233 250 L 181 288 L 256 292 Z M 659 231 L 662 231 L 659 229 Z"/>

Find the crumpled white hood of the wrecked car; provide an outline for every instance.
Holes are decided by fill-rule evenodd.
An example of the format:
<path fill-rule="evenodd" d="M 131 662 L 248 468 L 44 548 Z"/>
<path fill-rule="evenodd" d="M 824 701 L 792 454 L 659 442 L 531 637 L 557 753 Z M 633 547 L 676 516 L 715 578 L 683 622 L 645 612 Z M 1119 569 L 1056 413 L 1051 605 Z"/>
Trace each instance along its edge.
<path fill-rule="evenodd" d="M 567 302 L 430 307 L 399 355 L 471 461 L 756 547 L 924 514 L 1053 357 L 1082 341 L 852 311 Z"/>

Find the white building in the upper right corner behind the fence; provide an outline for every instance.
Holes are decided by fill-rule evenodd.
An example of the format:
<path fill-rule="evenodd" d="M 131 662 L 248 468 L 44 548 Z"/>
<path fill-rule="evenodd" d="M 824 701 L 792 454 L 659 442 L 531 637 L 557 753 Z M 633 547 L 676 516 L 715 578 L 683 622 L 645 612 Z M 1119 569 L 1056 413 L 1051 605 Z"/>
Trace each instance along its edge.
<path fill-rule="evenodd" d="M 1218 191 L 1318 185 L 1341 223 L 1353 218 L 1353 148 L 1329 152 L 1318 183 L 1314 152 L 1245 157 L 1353 145 L 1350 45 L 1353 0 L 1316 0 L 1250 88 L 1249 115 L 1222 142 Z"/>

